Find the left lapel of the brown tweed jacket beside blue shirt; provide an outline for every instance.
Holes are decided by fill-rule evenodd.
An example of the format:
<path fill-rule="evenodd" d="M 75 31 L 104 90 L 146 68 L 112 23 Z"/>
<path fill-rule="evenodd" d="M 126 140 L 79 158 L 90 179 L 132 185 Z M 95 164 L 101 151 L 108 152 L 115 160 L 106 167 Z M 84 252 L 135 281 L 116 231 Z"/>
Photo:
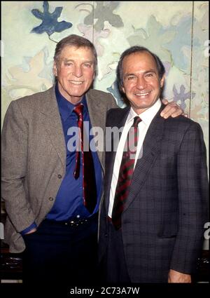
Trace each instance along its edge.
<path fill-rule="evenodd" d="M 59 156 L 59 159 L 65 169 L 66 144 L 54 87 L 50 88 L 49 92 L 46 93 L 45 103 L 41 110 L 41 114 L 43 116 L 43 126 L 45 126 L 45 129 L 50 137 L 50 141 L 52 142 L 52 146 L 57 152 L 57 155 Z"/>

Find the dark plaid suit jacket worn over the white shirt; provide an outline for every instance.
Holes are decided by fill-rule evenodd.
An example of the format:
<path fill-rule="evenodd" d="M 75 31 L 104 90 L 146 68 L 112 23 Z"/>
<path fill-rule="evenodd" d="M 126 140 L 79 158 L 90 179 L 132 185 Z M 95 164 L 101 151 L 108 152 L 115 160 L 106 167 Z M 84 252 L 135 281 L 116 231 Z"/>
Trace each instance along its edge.
<path fill-rule="evenodd" d="M 111 109 L 106 126 L 124 126 L 129 109 Z M 160 111 L 146 133 L 143 156 L 134 169 L 122 215 L 125 260 L 134 283 L 167 282 L 169 269 L 195 271 L 207 220 L 207 156 L 202 129 L 183 116 L 162 118 Z M 106 152 L 100 259 L 106 253 L 115 156 L 116 152 Z"/>

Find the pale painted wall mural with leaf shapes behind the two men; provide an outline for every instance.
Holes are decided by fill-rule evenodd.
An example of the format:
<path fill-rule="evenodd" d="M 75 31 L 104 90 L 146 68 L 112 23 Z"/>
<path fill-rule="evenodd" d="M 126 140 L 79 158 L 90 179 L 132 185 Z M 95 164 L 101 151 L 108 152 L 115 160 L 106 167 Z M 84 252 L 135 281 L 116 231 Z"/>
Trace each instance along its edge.
<path fill-rule="evenodd" d="M 157 54 L 167 70 L 164 97 L 200 123 L 209 148 L 207 1 L 1 1 L 1 8 L 1 121 L 11 100 L 52 86 L 56 43 L 78 34 L 97 49 L 94 88 L 112 93 L 120 107 L 120 53 L 138 44 Z"/>

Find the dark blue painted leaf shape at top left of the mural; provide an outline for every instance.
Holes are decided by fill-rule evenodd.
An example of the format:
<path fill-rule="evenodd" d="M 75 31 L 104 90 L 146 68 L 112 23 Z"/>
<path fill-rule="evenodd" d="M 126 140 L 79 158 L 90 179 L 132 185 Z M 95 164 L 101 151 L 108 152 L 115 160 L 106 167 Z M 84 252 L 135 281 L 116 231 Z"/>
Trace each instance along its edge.
<path fill-rule="evenodd" d="M 38 27 L 34 27 L 31 32 L 37 34 L 46 32 L 50 36 L 54 32 L 62 32 L 65 29 L 71 28 L 71 22 L 57 22 L 57 18 L 59 18 L 62 13 L 62 9 L 62 7 L 56 7 L 55 11 L 50 13 L 48 1 L 43 1 L 43 13 L 38 11 L 38 9 L 32 9 L 31 13 L 33 13 L 36 18 L 42 20 L 42 23 Z"/>

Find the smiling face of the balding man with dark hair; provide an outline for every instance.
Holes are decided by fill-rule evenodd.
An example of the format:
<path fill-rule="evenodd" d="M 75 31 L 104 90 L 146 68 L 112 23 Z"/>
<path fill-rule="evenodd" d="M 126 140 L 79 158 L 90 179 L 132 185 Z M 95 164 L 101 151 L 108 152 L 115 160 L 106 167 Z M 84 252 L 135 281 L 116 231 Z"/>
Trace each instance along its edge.
<path fill-rule="evenodd" d="M 123 92 L 137 114 L 155 104 L 164 80 L 150 53 L 132 53 L 123 59 Z"/>

